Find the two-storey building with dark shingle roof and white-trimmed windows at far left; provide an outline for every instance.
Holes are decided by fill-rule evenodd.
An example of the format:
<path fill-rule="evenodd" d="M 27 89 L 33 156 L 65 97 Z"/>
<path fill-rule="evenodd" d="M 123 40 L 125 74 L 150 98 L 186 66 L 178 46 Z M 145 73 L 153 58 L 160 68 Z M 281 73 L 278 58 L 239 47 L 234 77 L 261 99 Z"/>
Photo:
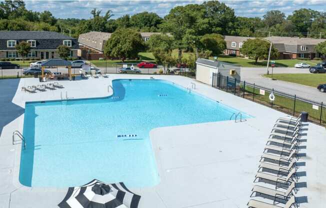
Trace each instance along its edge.
<path fill-rule="evenodd" d="M 75 38 L 52 31 L 0 31 L 0 58 L 19 58 L 16 44 L 26 41 L 30 44 L 28 58 L 58 58 L 57 47 L 66 45 L 71 48 L 70 56 L 77 57 L 79 49 Z"/>

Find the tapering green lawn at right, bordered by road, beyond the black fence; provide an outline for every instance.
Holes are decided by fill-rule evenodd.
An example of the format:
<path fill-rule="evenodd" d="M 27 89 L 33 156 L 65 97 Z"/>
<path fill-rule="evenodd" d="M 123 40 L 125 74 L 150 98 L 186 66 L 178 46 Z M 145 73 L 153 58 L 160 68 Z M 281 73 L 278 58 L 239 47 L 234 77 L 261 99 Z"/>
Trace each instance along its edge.
<path fill-rule="evenodd" d="M 271 78 L 271 74 L 264 76 Z M 276 73 L 273 74 L 273 78 L 313 87 L 326 83 L 326 73 Z"/>

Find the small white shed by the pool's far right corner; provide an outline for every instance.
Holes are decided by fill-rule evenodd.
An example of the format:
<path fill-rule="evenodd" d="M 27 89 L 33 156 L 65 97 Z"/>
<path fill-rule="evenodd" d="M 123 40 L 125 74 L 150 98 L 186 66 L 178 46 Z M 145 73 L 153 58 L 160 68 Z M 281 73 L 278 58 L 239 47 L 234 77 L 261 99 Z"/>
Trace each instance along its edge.
<path fill-rule="evenodd" d="M 224 76 L 230 76 L 240 80 L 241 66 L 219 60 L 198 58 L 196 60 L 196 80 L 206 84 L 212 83 L 212 74 L 220 72 Z"/>

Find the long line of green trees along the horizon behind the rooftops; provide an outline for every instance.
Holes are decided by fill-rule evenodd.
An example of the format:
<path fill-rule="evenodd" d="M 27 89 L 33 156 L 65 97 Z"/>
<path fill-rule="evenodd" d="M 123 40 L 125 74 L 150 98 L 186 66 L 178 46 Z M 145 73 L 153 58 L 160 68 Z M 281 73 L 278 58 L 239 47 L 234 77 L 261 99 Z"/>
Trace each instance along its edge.
<path fill-rule="evenodd" d="M 111 10 L 96 8 L 89 19 L 55 18 L 50 11 L 27 10 L 22 0 L 0 2 L 0 30 L 49 30 L 68 33 L 73 37 L 89 31 L 114 32 L 118 28 L 132 28 L 143 32 L 168 31 L 179 45 L 195 44 L 209 33 L 238 36 L 307 36 L 326 38 L 326 13 L 312 9 L 294 10 L 291 15 L 279 10 L 269 10 L 262 18 L 236 16 L 234 9 L 219 1 L 176 6 L 160 17 L 154 12 L 125 14 L 113 19 Z M 179 25 L 179 27 L 173 27 Z"/>

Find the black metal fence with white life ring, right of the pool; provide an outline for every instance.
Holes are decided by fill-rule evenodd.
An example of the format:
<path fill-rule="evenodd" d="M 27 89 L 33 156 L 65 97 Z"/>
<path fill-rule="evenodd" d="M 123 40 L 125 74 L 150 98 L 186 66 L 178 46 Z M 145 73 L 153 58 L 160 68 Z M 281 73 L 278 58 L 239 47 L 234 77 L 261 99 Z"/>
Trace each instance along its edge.
<path fill-rule="evenodd" d="M 298 116 L 302 111 L 308 112 L 310 122 L 326 126 L 326 103 L 240 81 L 233 77 L 223 76 L 220 73 L 213 73 L 212 87 L 293 116 Z"/>

